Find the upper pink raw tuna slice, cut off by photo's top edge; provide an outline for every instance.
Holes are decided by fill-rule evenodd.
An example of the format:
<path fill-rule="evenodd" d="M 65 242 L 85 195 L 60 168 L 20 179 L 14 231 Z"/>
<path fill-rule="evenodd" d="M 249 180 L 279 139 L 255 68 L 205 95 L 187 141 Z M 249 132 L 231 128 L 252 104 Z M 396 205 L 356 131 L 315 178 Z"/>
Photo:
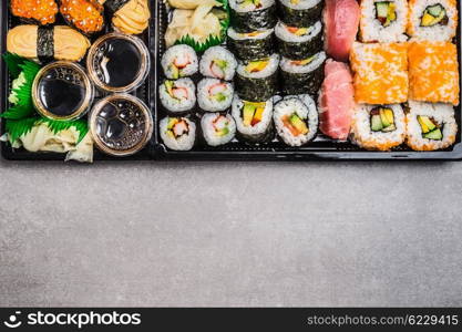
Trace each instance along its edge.
<path fill-rule="evenodd" d="M 348 61 L 359 27 L 360 9 L 356 0 L 326 0 L 324 11 L 326 52 L 338 61 Z"/>

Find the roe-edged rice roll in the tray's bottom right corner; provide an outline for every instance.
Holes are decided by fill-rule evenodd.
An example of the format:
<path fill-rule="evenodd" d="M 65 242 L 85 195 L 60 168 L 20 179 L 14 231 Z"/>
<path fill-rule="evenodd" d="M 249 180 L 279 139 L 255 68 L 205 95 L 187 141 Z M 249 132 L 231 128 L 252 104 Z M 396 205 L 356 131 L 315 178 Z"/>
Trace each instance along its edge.
<path fill-rule="evenodd" d="M 409 107 L 405 143 L 410 148 L 435 151 L 454 144 L 458 124 L 453 106 L 409 101 Z"/>

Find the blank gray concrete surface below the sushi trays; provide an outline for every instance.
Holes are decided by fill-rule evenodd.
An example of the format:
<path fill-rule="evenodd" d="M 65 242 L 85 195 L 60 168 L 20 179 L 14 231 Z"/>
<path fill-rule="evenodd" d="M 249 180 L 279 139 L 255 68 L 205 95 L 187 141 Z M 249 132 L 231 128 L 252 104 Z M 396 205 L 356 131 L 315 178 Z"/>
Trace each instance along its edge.
<path fill-rule="evenodd" d="M 0 165 L 0 305 L 462 305 L 462 164 Z"/>

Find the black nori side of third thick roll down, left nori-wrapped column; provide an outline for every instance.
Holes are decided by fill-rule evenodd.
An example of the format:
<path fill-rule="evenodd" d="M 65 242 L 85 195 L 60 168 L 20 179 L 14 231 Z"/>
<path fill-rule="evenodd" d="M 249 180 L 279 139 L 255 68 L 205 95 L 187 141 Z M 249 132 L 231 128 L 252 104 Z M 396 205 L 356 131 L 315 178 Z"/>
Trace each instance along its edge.
<path fill-rule="evenodd" d="M 242 100 L 261 102 L 273 97 L 277 92 L 278 71 L 263 79 L 250 79 L 236 73 L 234 89 Z"/>

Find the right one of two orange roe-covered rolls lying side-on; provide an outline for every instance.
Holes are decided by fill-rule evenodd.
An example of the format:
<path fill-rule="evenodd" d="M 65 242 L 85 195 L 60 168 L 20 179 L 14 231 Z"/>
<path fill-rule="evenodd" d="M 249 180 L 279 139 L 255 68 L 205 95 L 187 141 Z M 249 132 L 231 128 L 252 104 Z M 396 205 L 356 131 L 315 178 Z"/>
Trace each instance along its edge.
<path fill-rule="evenodd" d="M 459 105 L 456 46 L 450 42 L 411 42 L 409 79 L 411 100 Z"/>

